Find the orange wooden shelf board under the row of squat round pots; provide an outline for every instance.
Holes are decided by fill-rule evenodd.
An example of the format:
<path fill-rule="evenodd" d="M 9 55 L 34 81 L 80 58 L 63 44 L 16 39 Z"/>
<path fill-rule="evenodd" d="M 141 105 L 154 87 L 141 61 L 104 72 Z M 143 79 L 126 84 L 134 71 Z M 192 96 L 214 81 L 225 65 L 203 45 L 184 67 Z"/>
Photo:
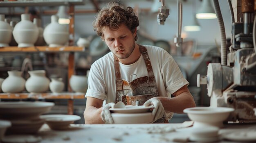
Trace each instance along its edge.
<path fill-rule="evenodd" d="M 62 92 L 62 93 L 0 93 L 0 99 L 84 99 L 85 95 Z"/>

